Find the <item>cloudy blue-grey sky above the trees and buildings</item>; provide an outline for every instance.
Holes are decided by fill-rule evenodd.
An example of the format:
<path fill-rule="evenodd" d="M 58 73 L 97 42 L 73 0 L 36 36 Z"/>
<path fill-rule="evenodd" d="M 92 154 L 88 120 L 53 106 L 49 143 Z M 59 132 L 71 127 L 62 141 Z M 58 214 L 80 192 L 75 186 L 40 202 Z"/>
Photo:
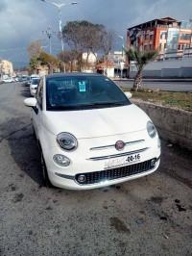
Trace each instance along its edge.
<path fill-rule="evenodd" d="M 48 0 L 70 3 L 70 0 Z M 75 0 L 79 4 L 61 8 L 62 26 L 67 21 L 87 20 L 103 24 L 124 38 L 128 28 L 156 18 L 170 16 L 179 20 L 192 19 L 192 0 Z M 43 39 L 42 46 L 49 53 L 46 34 L 59 32 L 59 10 L 40 0 L 0 0 L 0 58 L 13 65 L 28 62 L 26 47 L 32 41 Z M 116 37 L 114 50 L 121 50 L 122 39 Z M 66 45 L 64 45 L 66 47 Z M 61 50 L 57 36 L 52 38 L 52 51 Z"/>

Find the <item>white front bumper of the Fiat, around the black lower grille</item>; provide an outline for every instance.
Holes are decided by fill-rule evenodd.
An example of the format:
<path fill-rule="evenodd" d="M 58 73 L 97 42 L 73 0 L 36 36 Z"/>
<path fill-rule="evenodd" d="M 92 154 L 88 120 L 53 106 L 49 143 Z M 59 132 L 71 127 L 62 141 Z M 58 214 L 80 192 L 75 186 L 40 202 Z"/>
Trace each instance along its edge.
<path fill-rule="evenodd" d="M 140 151 L 141 160 L 135 163 L 133 161 L 132 164 L 122 164 L 122 159 L 132 156 L 132 152 L 135 151 Z M 58 166 L 50 158 L 56 153 L 59 153 L 58 149 L 54 148 L 43 152 L 50 181 L 56 187 L 69 190 L 96 189 L 140 178 L 156 171 L 160 163 L 160 149 L 157 145 L 146 147 L 145 150 L 116 154 L 116 158 L 113 157 L 115 155 L 110 155 L 110 159 L 83 159 L 79 154 L 71 158 L 67 155 L 71 164 L 66 167 Z M 61 150 L 60 153 L 64 155 L 65 152 Z M 151 164 L 152 160 L 155 160 L 155 165 Z M 106 163 L 109 163 L 109 166 L 106 167 Z M 85 177 L 83 182 L 80 182 L 80 176 Z"/>

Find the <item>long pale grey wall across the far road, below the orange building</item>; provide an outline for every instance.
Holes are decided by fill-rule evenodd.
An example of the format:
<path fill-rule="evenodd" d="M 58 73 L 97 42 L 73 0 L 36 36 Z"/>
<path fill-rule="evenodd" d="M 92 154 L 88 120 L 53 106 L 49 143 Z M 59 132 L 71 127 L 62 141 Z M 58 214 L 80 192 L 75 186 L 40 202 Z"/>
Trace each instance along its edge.
<path fill-rule="evenodd" d="M 130 68 L 130 77 L 136 75 L 136 66 Z M 143 70 L 143 77 L 192 77 L 192 57 L 179 60 L 166 60 L 147 64 Z"/>

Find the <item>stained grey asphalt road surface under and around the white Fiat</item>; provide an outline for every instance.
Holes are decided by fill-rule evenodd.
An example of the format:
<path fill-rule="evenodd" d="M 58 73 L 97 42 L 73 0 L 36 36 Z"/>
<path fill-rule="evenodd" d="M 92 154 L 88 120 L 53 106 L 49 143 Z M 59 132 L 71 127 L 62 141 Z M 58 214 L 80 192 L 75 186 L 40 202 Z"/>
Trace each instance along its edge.
<path fill-rule="evenodd" d="M 192 255 L 192 156 L 162 141 L 159 169 L 103 189 L 42 187 L 21 83 L 0 85 L 0 255 Z"/>

